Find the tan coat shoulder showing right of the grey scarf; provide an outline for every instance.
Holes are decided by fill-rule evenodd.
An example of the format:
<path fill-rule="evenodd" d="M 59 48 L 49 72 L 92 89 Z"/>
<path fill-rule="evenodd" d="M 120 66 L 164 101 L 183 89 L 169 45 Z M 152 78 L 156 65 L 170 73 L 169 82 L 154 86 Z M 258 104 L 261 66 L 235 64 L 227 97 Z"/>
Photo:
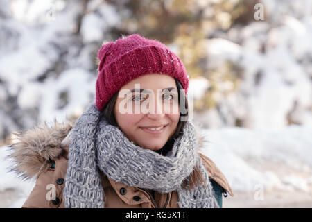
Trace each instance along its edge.
<path fill-rule="evenodd" d="M 214 180 L 220 187 L 223 187 L 229 195 L 234 196 L 234 192 L 232 188 L 229 186 L 229 182 L 227 182 L 227 179 L 223 175 L 223 173 L 218 169 L 216 164 L 206 155 L 203 155 L 202 153 L 198 153 L 200 160 L 205 165 L 205 168 L 207 170 L 207 173 L 209 177 Z"/>

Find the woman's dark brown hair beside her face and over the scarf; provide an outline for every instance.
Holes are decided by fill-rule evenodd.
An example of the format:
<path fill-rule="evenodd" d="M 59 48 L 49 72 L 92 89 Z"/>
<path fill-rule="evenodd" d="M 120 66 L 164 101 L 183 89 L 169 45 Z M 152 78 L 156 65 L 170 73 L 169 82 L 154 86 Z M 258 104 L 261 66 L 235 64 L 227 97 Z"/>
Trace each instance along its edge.
<path fill-rule="evenodd" d="M 181 134 L 183 134 L 183 128 L 185 124 L 187 123 L 187 118 L 189 116 L 189 106 L 187 102 L 187 97 L 185 96 L 184 90 L 180 81 L 175 78 L 175 84 L 177 85 L 177 91 L 178 91 L 178 101 L 180 104 L 180 119 L 179 122 L 177 123 L 177 129 L 175 130 L 175 133 L 168 139 L 168 142 L 164 145 L 163 148 L 161 148 L 159 151 L 156 151 L 157 153 L 161 155 L 166 155 L 169 151 L 171 151 L 171 148 L 173 147 L 173 144 L 175 142 L 175 139 L 179 137 Z M 116 104 L 117 96 L 119 92 L 116 92 L 114 96 L 108 101 L 103 108 L 102 114 L 107 120 L 107 123 L 109 123 L 112 126 L 119 127 L 116 121 L 116 118 L 114 116 L 114 107 Z M 180 103 L 180 100 L 184 101 L 185 108 L 182 107 L 182 104 Z M 186 112 L 181 112 L 181 110 L 185 110 Z M 182 117 L 183 121 L 182 121 Z M 191 189 L 195 187 L 198 184 L 203 184 L 205 185 L 206 182 L 204 178 L 202 178 L 202 172 L 200 171 L 200 168 L 198 165 L 196 165 L 193 169 L 193 172 L 189 176 L 189 180 L 184 180 L 182 187 L 187 187 L 188 189 Z"/>

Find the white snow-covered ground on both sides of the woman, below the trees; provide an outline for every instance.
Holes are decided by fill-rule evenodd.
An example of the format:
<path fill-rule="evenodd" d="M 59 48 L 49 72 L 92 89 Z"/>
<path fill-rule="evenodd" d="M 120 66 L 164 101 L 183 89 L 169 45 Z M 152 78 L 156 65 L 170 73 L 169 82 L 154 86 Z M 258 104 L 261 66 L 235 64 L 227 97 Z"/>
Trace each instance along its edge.
<path fill-rule="evenodd" d="M 201 152 L 216 163 L 236 194 L 234 198 L 224 198 L 225 207 L 259 206 L 256 203 L 270 207 L 277 206 L 280 203 L 277 200 L 291 205 L 294 198 L 291 194 L 297 198 L 311 196 L 312 127 L 203 129 L 199 133 L 205 135 L 205 148 Z M 8 153 L 8 148 L 0 148 L 0 197 L 7 194 L 6 198 L 0 198 L 0 207 L 21 207 L 35 180 L 21 181 L 15 173 L 8 173 Z M 257 202 L 261 194 L 264 201 Z"/>

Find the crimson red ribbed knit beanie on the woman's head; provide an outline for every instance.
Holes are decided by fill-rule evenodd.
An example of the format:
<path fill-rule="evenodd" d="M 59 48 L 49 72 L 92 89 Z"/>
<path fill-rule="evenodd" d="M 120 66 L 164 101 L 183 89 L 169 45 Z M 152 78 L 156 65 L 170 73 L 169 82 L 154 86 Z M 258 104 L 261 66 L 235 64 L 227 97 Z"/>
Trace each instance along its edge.
<path fill-rule="evenodd" d="M 189 86 L 187 71 L 175 53 L 157 40 L 134 34 L 104 44 L 98 51 L 96 107 L 102 110 L 112 96 L 145 74 L 167 74 L 180 81 L 185 94 Z"/>

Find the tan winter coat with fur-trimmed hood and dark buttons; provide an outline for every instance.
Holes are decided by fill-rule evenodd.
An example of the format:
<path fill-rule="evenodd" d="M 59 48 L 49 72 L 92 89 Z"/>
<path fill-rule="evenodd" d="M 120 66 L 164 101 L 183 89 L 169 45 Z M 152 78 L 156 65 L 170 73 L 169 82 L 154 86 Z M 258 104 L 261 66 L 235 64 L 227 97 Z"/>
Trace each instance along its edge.
<path fill-rule="evenodd" d="M 12 155 L 16 161 L 15 171 L 26 178 L 37 178 L 35 187 L 22 207 L 64 207 L 62 190 L 67 171 L 69 141 L 67 134 L 71 123 L 55 123 L 55 126 L 37 126 L 25 133 L 17 134 L 17 142 L 12 144 Z M 200 139 L 200 138 L 199 138 Z M 201 140 L 199 141 L 201 143 Z M 225 176 L 205 155 L 200 154 L 209 177 L 234 196 Z M 177 192 L 152 195 L 146 189 L 129 187 L 114 182 L 102 174 L 105 207 L 167 207 L 177 208 Z M 55 191 L 55 198 L 53 192 Z M 52 199 L 52 200 L 51 200 Z"/>

